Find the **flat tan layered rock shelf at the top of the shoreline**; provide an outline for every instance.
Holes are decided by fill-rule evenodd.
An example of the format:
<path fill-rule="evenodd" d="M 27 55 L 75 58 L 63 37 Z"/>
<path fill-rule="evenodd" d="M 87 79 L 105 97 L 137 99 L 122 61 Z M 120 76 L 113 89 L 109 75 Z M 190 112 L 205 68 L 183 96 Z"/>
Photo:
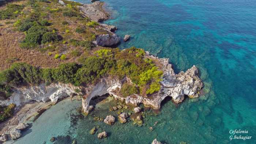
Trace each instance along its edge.
<path fill-rule="evenodd" d="M 103 2 L 96 1 L 92 4 L 83 4 L 79 6 L 82 15 L 87 16 L 95 22 L 101 22 L 102 20 L 107 20 L 109 18 L 108 12 L 103 10 Z"/>

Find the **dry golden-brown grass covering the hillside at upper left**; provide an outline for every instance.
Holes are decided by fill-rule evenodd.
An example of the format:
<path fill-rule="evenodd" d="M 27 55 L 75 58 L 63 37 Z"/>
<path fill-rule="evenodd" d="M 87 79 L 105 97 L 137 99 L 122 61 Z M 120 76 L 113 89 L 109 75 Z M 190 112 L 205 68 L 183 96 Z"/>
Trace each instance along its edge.
<path fill-rule="evenodd" d="M 7 19 L 0 20 L 0 70 L 7 69 L 11 66 L 13 62 L 26 62 L 28 64 L 38 66 L 38 67 L 57 67 L 60 63 L 64 62 L 74 62 L 79 59 L 79 57 L 71 56 L 70 52 L 72 50 L 79 50 L 81 54 L 80 57 L 87 57 L 94 55 L 95 50 L 101 49 L 102 47 L 93 48 L 93 50 L 87 51 L 82 47 L 74 47 L 68 43 L 70 39 L 77 40 L 90 40 L 93 34 L 102 34 L 108 33 L 104 30 L 95 29 L 94 27 L 86 26 L 86 19 L 79 20 L 76 17 L 65 17 L 63 16 L 63 12 L 50 12 L 47 8 L 60 8 L 64 9 L 65 7 L 60 4 L 53 3 L 39 3 L 42 8 L 42 14 L 45 15 L 45 19 L 47 19 L 51 26 L 48 26 L 48 30 L 56 30 L 56 33 L 63 37 L 63 41 L 67 41 L 67 43 L 63 43 L 60 41 L 58 43 L 49 43 L 47 45 L 38 46 L 35 49 L 22 49 L 19 47 L 20 42 L 25 38 L 25 34 L 19 32 L 16 27 L 13 26 L 13 23 L 16 22 L 17 19 L 26 18 L 33 8 L 30 5 L 27 5 L 27 0 L 24 1 L 15 1 L 12 4 L 24 4 L 26 7 L 23 9 L 24 14 L 19 15 L 16 19 Z M 1 9 L 5 9 L 6 6 L 0 7 Z M 61 22 L 67 21 L 68 25 L 63 25 Z M 76 33 L 75 29 L 77 27 L 86 27 L 86 33 Z M 69 33 L 65 31 L 69 30 Z M 52 46 L 53 49 L 45 49 L 48 46 Z M 41 51 L 41 52 L 40 52 Z M 48 53 L 51 52 L 51 55 Z M 54 59 L 55 54 L 65 54 L 67 56 L 66 60 Z"/>

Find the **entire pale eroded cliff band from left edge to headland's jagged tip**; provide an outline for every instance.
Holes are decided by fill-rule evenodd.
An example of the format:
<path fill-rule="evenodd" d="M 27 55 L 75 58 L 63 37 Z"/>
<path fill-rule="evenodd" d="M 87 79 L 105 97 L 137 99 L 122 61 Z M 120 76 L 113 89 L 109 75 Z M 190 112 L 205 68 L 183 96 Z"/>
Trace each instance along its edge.
<path fill-rule="evenodd" d="M 176 103 L 182 102 L 185 95 L 189 96 L 189 98 L 196 98 L 199 96 L 198 93 L 202 89 L 203 83 L 198 77 L 199 72 L 195 65 L 186 72 L 182 71 L 175 74 L 172 65 L 169 64 L 168 58 L 158 58 L 150 55 L 148 52 L 146 52 L 146 57 L 158 61 L 158 67 L 163 71 L 161 89 L 157 93 L 149 96 L 132 94 L 124 98 L 120 94 L 120 90 L 123 83 L 126 81 L 130 82 L 130 80 L 127 77 L 123 80 L 114 77 L 105 77 L 98 80 L 97 84 L 83 87 L 83 94 L 79 93 L 79 95 L 83 95 L 83 111 L 89 113 L 90 100 L 94 96 L 101 96 L 106 93 L 114 96 L 115 99 L 125 101 L 127 104 L 138 105 L 139 103 L 143 103 L 145 106 L 150 106 L 153 109 L 160 109 L 161 102 L 167 96 L 171 96 L 172 100 Z M 81 87 L 62 83 L 53 83 L 49 86 L 40 84 L 39 86 L 16 88 L 8 100 L 0 101 L 0 106 L 6 106 L 10 103 L 15 103 L 16 106 L 19 106 L 22 103 L 33 100 L 38 102 L 46 102 L 50 100 L 53 103 L 56 103 L 60 98 L 72 96 L 77 90 L 81 90 Z"/>

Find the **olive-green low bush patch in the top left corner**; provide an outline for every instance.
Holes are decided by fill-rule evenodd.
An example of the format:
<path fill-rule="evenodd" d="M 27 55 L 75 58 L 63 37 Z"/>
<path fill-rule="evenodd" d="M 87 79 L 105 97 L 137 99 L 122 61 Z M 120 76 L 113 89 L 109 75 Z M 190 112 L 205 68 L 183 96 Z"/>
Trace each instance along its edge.
<path fill-rule="evenodd" d="M 8 4 L 5 10 L 0 10 L 0 20 L 13 19 L 18 16 L 24 6 L 16 4 Z"/>

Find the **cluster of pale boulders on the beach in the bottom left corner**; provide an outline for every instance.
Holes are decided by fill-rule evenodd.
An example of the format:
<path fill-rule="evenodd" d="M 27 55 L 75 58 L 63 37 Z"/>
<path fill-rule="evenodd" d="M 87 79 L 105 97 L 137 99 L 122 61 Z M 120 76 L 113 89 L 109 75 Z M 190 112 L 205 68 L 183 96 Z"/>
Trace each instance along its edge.
<path fill-rule="evenodd" d="M 5 141 L 8 141 L 8 140 L 19 139 L 20 136 L 22 135 L 21 131 L 25 130 L 28 127 L 29 127 L 29 124 L 20 123 L 15 128 L 12 128 L 11 130 L 9 130 L 8 132 L 6 132 L 4 134 L 1 134 L 0 141 L 5 142 Z"/>

